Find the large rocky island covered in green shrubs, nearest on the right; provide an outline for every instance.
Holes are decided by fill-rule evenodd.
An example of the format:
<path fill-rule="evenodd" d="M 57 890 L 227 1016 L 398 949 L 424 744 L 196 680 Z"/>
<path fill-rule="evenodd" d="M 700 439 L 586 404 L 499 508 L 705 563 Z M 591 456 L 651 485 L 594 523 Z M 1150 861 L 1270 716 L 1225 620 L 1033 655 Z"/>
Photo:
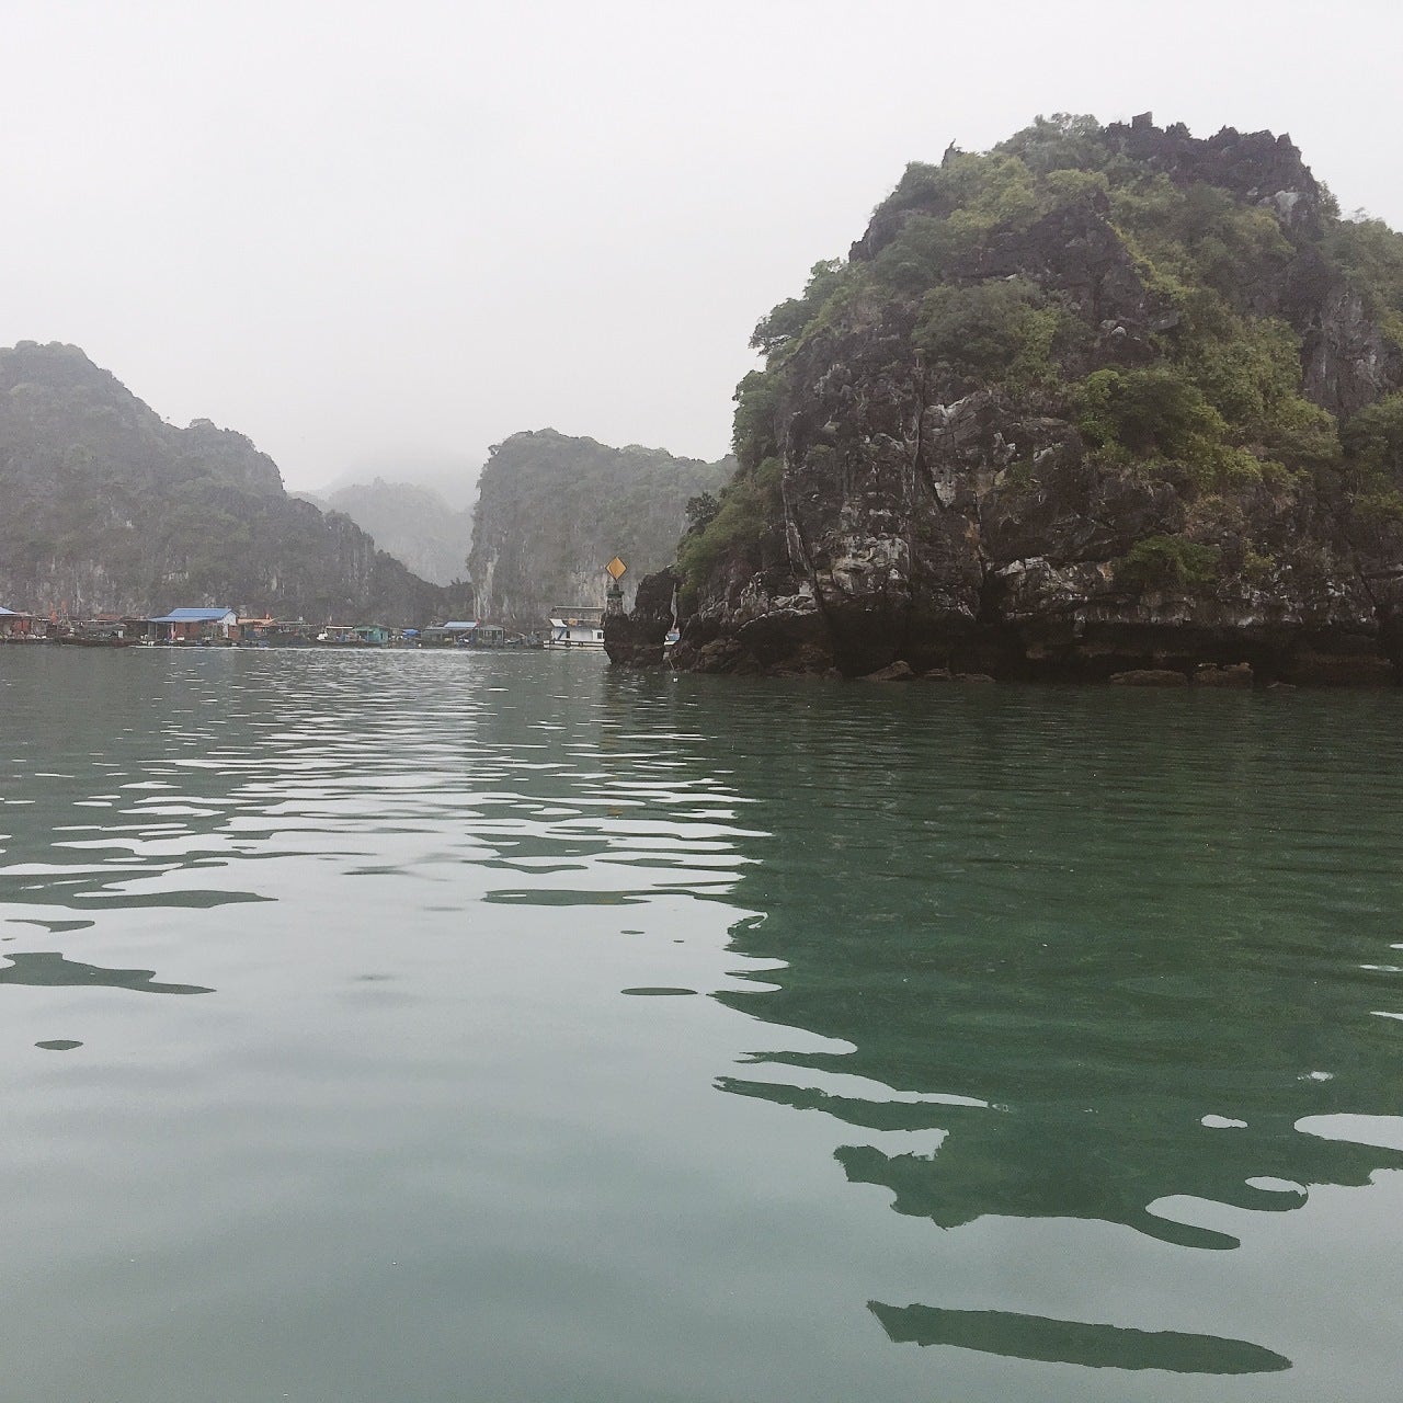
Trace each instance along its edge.
<path fill-rule="evenodd" d="M 678 661 L 1393 676 L 1400 313 L 1403 237 L 1287 137 L 1061 119 L 912 167 L 756 330 Z"/>

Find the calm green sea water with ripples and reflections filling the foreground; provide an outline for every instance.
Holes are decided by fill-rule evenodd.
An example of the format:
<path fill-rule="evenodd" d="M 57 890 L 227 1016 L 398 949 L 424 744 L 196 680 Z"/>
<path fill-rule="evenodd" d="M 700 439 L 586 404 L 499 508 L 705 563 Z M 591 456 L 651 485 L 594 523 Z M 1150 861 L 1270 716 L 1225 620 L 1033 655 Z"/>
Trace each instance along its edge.
<path fill-rule="evenodd" d="M 1393 1400 L 1403 697 L 0 648 L 0 1397 Z"/>

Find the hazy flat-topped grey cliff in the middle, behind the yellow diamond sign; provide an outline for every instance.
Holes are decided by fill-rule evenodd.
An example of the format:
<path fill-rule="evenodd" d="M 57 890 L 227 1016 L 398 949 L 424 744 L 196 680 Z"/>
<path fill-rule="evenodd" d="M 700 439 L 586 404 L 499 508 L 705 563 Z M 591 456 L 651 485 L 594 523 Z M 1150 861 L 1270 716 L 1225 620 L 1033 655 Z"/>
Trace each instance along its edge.
<path fill-rule="evenodd" d="M 535 629 L 551 609 L 602 606 L 615 556 L 629 567 L 631 603 L 637 581 L 672 558 L 687 501 L 734 466 L 554 429 L 513 434 L 492 449 L 478 488 L 469 571 L 480 616 Z"/>

